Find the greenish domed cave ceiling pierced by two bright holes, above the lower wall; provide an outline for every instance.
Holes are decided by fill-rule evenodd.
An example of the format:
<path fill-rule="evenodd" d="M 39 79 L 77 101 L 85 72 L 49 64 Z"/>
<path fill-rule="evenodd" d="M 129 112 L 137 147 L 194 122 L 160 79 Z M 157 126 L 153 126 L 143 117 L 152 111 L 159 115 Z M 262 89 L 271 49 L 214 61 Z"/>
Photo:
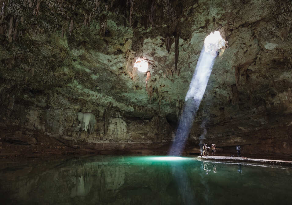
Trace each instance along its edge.
<path fill-rule="evenodd" d="M 16 103 L 175 122 L 204 39 L 219 30 L 228 48 L 215 60 L 197 120 L 291 113 L 291 1 L 0 3 L 0 90 Z M 137 58 L 149 64 L 147 90 Z"/>

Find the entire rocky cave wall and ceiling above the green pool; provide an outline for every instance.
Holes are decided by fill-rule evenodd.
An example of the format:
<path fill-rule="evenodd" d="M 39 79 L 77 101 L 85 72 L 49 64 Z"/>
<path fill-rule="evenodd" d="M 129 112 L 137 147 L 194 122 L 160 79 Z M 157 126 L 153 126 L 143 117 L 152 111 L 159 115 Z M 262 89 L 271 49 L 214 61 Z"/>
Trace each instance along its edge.
<path fill-rule="evenodd" d="M 204 141 L 226 154 L 240 144 L 243 155 L 292 157 L 290 1 L 0 5 L 2 154 L 169 146 L 204 39 L 220 31 L 229 47 L 215 59 L 187 150 Z M 133 67 L 140 57 L 149 81 Z M 79 131 L 78 112 L 95 116 L 92 133 Z"/>

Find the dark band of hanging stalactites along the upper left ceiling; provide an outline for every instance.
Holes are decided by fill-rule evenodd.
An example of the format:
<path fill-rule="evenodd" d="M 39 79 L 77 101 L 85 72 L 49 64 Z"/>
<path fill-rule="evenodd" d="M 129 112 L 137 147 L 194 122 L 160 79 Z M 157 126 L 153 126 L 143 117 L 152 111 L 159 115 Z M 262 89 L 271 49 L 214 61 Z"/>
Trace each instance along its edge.
<path fill-rule="evenodd" d="M 90 27 L 91 22 L 96 20 L 100 22 L 101 34 L 104 34 L 108 14 L 115 13 L 121 16 L 124 26 L 135 28 L 139 21 L 140 26 L 145 30 L 150 24 L 152 27 L 168 25 L 166 46 L 167 52 L 170 52 L 172 41 L 169 37 L 173 35 L 176 41 L 180 38 L 177 25 L 188 3 L 183 0 L 24 0 L 21 2 L 0 0 L 0 33 L 5 34 L 9 42 L 12 42 L 20 32 L 30 28 L 30 25 L 36 25 L 42 31 L 61 30 L 64 36 L 64 33 L 71 34 L 81 25 Z M 162 29 L 160 32 L 160 35 L 164 36 L 165 31 Z M 178 56 L 178 52 L 176 53 Z"/>

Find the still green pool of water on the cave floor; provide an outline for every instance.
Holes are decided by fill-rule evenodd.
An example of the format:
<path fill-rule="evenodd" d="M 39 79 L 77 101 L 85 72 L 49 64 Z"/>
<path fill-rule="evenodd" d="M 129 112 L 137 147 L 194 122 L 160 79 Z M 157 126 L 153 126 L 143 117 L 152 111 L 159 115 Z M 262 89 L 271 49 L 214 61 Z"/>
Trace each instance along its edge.
<path fill-rule="evenodd" d="M 94 156 L 0 164 L 1 204 L 291 204 L 289 167 L 191 157 Z"/>

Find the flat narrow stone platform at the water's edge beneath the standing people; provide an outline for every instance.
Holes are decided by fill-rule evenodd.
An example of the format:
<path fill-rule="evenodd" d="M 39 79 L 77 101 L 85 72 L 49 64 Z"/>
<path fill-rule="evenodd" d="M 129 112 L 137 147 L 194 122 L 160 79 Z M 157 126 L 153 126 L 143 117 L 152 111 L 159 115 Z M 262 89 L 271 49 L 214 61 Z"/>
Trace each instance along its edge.
<path fill-rule="evenodd" d="M 198 160 L 216 160 L 216 161 L 230 161 L 230 162 L 241 162 L 241 163 L 257 163 L 257 164 L 292 166 L 292 161 L 253 159 L 253 158 L 242 158 L 242 157 L 231 157 L 231 156 L 198 156 Z"/>

